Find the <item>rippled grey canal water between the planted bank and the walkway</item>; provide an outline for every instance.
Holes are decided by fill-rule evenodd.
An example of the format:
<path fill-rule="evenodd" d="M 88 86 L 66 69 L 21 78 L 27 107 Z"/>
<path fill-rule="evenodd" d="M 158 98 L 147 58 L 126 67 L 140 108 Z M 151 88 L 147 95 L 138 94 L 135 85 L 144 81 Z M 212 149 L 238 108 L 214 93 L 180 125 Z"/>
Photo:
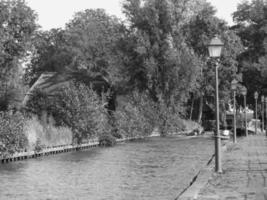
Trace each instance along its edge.
<path fill-rule="evenodd" d="M 174 136 L 0 164 L 0 199 L 174 200 L 213 151 Z"/>

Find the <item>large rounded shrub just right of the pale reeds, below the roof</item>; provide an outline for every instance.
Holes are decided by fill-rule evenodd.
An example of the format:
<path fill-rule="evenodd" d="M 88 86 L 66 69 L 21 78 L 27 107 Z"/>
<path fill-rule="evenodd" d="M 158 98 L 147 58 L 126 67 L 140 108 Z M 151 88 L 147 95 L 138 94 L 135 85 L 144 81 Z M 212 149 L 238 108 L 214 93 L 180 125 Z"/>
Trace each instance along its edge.
<path fill-rule="evenodd" d="M 70 127 L 81 143 L 84 138 L 111 132 L 105 105 L 104 94 L 101 99 L 86 85 L 72 83 L 57 95 L 53 116 L 60 125 Z"/>

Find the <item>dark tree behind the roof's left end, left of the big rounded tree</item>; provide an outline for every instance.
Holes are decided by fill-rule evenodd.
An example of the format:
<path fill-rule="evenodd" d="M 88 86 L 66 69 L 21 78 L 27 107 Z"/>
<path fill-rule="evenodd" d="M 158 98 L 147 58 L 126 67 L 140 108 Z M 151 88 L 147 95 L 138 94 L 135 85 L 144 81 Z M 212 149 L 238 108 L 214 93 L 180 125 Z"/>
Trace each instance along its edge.
<path fill-rule="evenodd" d="M 64 73 L 71 65 L 73 55 L 69 50 L 67 36 L 62 29 L 51 29 L 50 31 L 38 31 L 35 33 L 24 80 L 32 86 L 39 76 L 44 72 Z"/>

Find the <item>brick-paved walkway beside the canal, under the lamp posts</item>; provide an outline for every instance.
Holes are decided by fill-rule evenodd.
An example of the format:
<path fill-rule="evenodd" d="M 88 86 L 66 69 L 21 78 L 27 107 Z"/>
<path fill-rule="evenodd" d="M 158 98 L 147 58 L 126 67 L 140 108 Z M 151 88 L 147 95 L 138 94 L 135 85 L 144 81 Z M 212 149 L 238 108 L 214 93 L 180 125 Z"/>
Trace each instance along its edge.
<path fill-rule="evenodd" d="M 253 135 L 229 146 L 223 174 L 213 174 L 198 200 L 267 200 L 267 137 Z"/>

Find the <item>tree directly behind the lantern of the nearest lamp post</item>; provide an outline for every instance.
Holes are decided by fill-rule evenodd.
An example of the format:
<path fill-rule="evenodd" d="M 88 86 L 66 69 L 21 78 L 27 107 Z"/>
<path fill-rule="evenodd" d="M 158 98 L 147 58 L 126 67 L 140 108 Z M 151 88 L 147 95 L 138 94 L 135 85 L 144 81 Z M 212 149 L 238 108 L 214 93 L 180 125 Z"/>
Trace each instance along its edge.
<path fill-rule="evenodd" d="M 219 72 L 220 99 L 223 102 L 221 107 L 225 107 L 229 101 L 230 82 L 236 76 L 238 62 L 237 56 L 242 52 L 243 46 L 239 37 L 223 20 L 215 16 L 215 9 L 210 3 L 203 3 L 202 9 L 183 27 L 187 44 L 194 49 L 200 59 L 201 73 L 198 78 L 196 89 L 192 92 L 191 113 L 195 99 L 198 99 L 197 121 L 202 121 L 203 106 L 215 111 L 214 86 L 215 70 L 214 63 L 208 57 L 207 44 L 215 35 L 220 35 L 224 42 L 224 50 L 221 57 L 221 67 Z"/>

